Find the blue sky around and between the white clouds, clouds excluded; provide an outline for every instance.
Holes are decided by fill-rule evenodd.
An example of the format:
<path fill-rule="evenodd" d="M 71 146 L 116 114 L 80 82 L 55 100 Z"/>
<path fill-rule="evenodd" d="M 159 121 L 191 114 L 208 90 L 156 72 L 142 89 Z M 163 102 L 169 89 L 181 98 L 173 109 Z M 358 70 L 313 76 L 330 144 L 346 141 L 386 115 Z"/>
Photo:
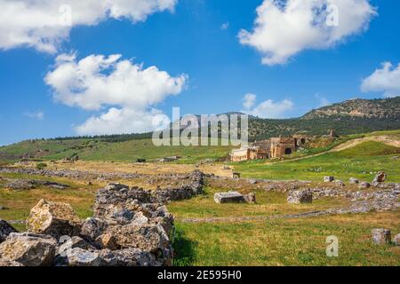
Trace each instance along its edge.
<path fill-rule="evenodd" d="M 261 4 L 180 0 L 174 12 L 154 12 L 144 21 L 111 18 L 74 27 L 55 52 L 26 44 L 0 49 L 0 145 L 76 135 L 76 125 L 114 106 L 107 102 L 85 109 L 54 99 L 54 88 L 44 78 L 62 53 L 75 52 L 76 60 L 121 54 L 121 59 L 143 63 L 144 68 L 156 66 L 172 77 L 188 75 L 179 94 L 148 105 L 167 115 L 172 106 L 180 106 L 183 114 L 240 111 L 248 93 L 256 95 L 252 105 L 268 99 L 290 102 L 276 117 L 299 116 L 327 102 L 383 98 L 388 91 L 396 95 L 396 87 L 361 91 L 361 85 L 383 62 L 395 67 L 400 62 L 398 1 L 370 1 L 378 15 L 366 30 L 326 48 L 301 50 L 276 65 L 262 64 L 260 51 L 240 43 L 238 36 L 241 29 L 252 31 Z"/>

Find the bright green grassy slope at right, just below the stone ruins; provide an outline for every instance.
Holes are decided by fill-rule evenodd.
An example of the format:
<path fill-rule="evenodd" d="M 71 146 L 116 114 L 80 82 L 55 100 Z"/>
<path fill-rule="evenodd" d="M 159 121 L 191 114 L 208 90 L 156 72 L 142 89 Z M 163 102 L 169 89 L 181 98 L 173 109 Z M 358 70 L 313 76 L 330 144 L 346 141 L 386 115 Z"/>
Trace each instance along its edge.
<path fill-rule="evenodd" d="M 327 175 L 344 181 L 349 177 L 371 181 L 377 171 L 385 170 L 389 182 L 400 182 L 400 160 L 394 160 L 395 155 L 400 155 L 399 148 L 370 141 L 348 150 L 299 161 L 239 163 L 235 170 L 243 177 L 311 181 L 321 181 Z"/>

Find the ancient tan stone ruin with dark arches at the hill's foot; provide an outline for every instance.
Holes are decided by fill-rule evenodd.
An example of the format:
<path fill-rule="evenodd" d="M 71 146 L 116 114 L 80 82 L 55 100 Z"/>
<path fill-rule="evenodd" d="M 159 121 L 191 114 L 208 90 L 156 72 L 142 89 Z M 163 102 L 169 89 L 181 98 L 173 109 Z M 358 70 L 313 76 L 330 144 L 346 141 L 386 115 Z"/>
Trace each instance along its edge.
<path fill-rule="evenodd" d="M 308 141 L 308 137 L 301 135 L 256 141 L 248 147 L 232 150 L 230 160 L 232 162 L 244 162 L 281 158 L 284 155 L 295 153 L 300 146 L 305 145 Z"/>

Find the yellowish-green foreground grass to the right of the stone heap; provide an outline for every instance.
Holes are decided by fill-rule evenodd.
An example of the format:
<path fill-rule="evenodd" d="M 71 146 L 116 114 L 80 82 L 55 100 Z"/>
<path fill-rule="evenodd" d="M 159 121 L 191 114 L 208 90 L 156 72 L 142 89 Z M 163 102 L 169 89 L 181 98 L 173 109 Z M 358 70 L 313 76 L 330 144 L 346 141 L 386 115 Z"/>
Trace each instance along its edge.
<path fill-rule="evenodd" d="M 175 265 L 400 265 L 400 248 L 376 246 L 374 227 L 399 232 L 399 212 L 268 222 L 177 222 Z M 365 222 L 370 221 L 370 222 Z M 339 257 L 327 257 L 326 238 L 339 238 Z"/>

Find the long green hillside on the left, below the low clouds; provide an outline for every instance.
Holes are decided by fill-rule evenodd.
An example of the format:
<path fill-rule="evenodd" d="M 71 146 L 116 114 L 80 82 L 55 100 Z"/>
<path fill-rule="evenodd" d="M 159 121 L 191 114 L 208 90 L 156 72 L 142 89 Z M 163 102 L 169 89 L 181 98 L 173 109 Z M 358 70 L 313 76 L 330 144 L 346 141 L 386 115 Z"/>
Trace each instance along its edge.
<path fill-rule="evenodd" d="M 156 159 L 181 156 L 179 162 L 196 163 L 205 159 L 226 157 L 231 146 L 154 146 L 151 139 L 135 139 L 110 143 L 101 139 L 35 140 L 0 147 L 0 152 L 20 156 L 49 150 L 41 159 L 60 160 L 78 154 L 85 161 L 135 162 L 137 159 Z M 11 162 L 11 161 L 10 161 Z"/>

